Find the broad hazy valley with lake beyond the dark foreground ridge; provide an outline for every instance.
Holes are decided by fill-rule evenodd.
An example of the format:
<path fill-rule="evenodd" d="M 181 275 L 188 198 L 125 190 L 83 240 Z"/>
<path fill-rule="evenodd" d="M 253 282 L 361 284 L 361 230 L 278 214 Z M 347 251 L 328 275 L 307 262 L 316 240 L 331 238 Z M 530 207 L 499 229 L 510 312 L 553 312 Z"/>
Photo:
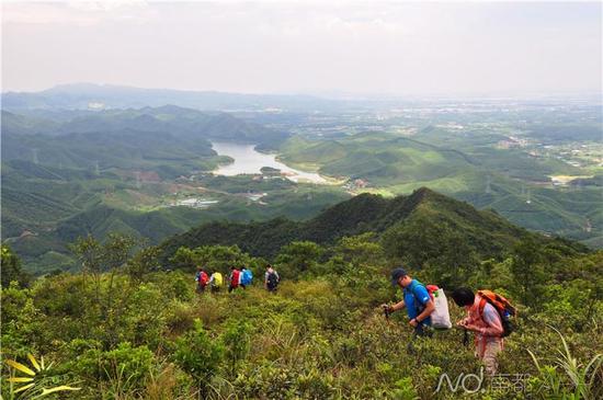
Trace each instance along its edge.
<path fill-rule="evenodd" d="M 306 220 L 362 193 L 424 186 L 603 245 L 602 124 L 590 103 L 305 104 L 3 110 L 2 238 L 47 273 L 75 267 L 67 243 L 80 236 L 157 244 L 209 221 Z"/>

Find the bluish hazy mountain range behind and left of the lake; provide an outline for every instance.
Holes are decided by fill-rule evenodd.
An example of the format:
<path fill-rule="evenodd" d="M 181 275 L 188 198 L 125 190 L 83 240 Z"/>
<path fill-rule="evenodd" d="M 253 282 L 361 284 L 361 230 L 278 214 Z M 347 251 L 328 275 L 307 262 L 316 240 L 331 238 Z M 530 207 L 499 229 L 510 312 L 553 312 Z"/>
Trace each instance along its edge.
<path fill-rule="evenodd" d="M 209 140 L 277 147 L 289 136 L 226 113 L 174 105 L 128 110 L 62 111 L 20 115 L 2 111 L 2 160 L 27 160 L 57 168 L 148 169 L 174 163 L 211 170 Z"/>

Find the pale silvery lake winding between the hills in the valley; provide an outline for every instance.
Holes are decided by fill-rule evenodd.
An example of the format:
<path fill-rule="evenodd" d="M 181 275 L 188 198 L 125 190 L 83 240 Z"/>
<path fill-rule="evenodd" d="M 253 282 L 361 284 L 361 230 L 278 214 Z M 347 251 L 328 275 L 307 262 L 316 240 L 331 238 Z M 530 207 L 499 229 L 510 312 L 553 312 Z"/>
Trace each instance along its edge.
<path fill-rule="evenodd" d="M 261 173 L 260 169 L 262 167 L 272 167 L 281 170 L 287 179 L 294 182 L 306 181 L 312 183 L 327 183 L 327 180 L 318 173 L 295 170 L 278 162 L 276 160 L 276 155 L 259 152 L 255 150 L 254 145 L 213 141 L 212 147 L 218 155 L 228 156 L 235 160 L 235 162 L 228 165 L 220 165 L 218 169 L 214 170 L 213 172 L 216 175 L 232 176 L 243 173 Z"/>

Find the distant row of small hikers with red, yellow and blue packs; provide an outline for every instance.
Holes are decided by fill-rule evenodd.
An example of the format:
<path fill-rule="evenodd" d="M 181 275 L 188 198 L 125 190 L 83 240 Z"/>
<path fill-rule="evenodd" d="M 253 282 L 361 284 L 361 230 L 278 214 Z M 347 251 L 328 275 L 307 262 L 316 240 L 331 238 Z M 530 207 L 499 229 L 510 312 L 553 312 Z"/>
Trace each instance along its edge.
<path fill-rule="evenodd" d="M 197 266 L 197 272 L 195 274 L 196 282 L 196 292 L 204 293 L 207 287 L 212 293 L 220 292 L 224 286 L 224 276 L 219 271 L 214 271 L 211 275 L 207 274 L 207 268 L 204 266 Z M 239 270 L 236 266 L 230 267 L 230 275 L 228 275 L 228 293 L 237 288 L 244 289 L 247 286 L 253 283 L 253 273 L 250 268 L 241 266 Z M 266 271 L 264 273 L 264 288 L 269 292 L 276 292 L 278 284 L 281 283 L 281 277 L 272 265 L 266 265 Z"/>

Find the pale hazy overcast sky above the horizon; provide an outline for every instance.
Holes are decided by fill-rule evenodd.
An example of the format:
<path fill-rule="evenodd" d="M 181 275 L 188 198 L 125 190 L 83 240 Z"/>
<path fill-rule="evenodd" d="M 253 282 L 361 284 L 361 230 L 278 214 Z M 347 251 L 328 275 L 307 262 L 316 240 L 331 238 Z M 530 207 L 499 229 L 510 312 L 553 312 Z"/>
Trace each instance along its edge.
<path fill-rule="evenodd" d="M 2 2 L 2 90 L 600 91 L 602 5 Z"/>

